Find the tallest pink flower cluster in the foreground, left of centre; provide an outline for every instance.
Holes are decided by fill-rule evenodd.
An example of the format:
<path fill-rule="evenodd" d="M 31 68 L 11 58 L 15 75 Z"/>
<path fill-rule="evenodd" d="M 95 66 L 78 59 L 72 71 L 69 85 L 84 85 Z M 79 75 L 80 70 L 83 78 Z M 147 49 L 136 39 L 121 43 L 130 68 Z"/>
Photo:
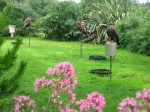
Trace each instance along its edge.
<path fill-rule="evenodd" d="M 53 78 L 51 80 L 47 80 L 45 77 L 36 79 L 34 82 L 35 91 L 37 92 L 40 87 L 49 87 L 52 90 L 52 102 L 59 105 L 58 110 L 60 112 L 68 110 L 68 112 L 74 112 L 73 109 L 70 109 L 70 104 L 65 104 L 60 100 L 61 93 L 67 94 L 70 103 L 74 103 L 76 98 L 76 94 L 73 93 L 72 89 L 77 86 L 77 78 L 74 75 L 74 68 L 71 63 L 58 63 L 54 68 L 48 68 L 46 73 Z"/>

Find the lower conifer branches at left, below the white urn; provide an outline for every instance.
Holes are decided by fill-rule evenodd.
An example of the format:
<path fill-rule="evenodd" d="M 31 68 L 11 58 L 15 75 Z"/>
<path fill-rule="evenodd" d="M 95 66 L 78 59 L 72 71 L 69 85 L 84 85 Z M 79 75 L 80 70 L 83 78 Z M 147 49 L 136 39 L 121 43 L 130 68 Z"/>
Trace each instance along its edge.
<path fill-rule="evenodd" d="M 0 39 L 0 41 L 3 41 Z M 3 43 L 3 42 L 0 42 Z M 18 87 L 17 80 L 23 75 L 26 62 L 20 62 L 17 72 L 11 76 L 5 76 L 5 72 L 11 69 L 17 58 L 17 51 L 22 43 L 22 39 L 17 38 L 12 49 L 9 49 L 3 56 L 0 56 L 0 97 L 11 94 Z"/>

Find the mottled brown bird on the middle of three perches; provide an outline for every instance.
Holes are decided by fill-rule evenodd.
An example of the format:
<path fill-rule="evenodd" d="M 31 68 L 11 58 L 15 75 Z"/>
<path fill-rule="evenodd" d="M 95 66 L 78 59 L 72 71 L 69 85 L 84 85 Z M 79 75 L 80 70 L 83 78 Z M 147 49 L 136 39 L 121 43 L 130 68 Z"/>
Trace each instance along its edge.
<path fill-rule="evenodd" d="M 76 22 L 76 26 L 80 32 L 82 32 L 86 36 L 88 35 L 87 26 L 86 26 L 85 22 L 81 20 L 81 18 L 78 18 L 78 20 Z"/>

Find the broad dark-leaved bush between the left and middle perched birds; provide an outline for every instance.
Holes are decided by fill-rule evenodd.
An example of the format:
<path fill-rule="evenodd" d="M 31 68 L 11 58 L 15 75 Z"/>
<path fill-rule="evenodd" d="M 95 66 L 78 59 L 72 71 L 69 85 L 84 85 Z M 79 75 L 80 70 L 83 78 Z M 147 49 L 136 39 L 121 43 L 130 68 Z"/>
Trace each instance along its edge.
<path fill-rule="evenodd" d="M 58 40 L 76 40 L 76 18 L 79 6 L 75 2 L 59 2 L 50 8 L 48 15 L 40 18 L 35 27 L 44 32 L 47 38 Z"/>

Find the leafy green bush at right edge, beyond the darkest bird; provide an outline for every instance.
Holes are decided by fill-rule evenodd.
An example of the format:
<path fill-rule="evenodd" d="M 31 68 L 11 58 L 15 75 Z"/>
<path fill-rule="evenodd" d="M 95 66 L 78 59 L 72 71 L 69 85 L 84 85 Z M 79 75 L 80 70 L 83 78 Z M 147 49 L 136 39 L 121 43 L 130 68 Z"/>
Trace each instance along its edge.
<path fill-rule="evenodd" d="M 131 13 L 117 24 L 121 48 L 150 56 L 149 18 L 150 11 L 145 12 L 144 8 L 141 8 L 138 13 Z"/>

